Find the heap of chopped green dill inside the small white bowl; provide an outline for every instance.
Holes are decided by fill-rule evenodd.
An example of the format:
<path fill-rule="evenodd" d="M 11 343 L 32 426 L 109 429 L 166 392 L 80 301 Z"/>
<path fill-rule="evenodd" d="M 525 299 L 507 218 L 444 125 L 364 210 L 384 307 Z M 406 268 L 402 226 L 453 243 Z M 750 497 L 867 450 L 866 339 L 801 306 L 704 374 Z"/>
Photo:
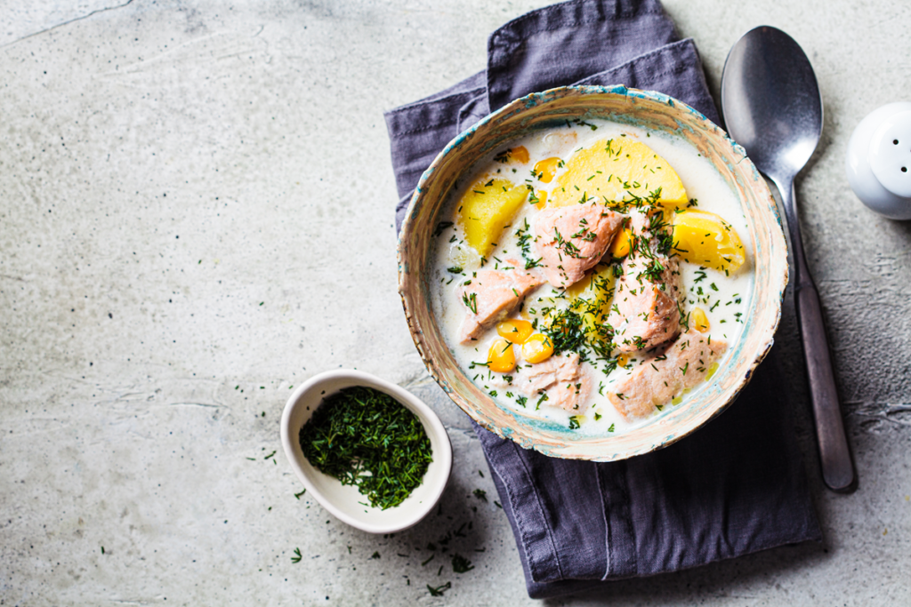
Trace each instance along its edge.
<path fill-rule="evenodd" d="M 363 386 L 323 399 L 299 440 L 313 467 L 355 485 L 382 510 L 411 495 L 433 461 L 417 416 L 385 392 Z"/>

